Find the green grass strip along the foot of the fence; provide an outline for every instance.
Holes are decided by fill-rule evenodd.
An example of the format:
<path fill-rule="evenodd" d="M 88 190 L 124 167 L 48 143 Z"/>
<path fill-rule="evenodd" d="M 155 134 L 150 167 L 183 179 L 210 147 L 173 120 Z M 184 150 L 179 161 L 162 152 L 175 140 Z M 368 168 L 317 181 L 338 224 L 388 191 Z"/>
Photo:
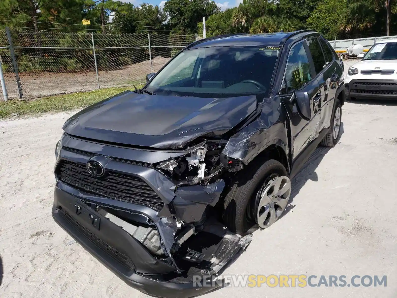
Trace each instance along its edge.
<path fill-rule="evenodd" d="M 137 88 L 142 87 L 137 86 Z M 76 92 L 73 94 L 55 95 L 43 97 L 32 101 L 10 100 L 0 102 L 0 118 L 11 116 L 39 114 L 44 112 L 60 112 L 83 108 L 90 104 L 97 103 L 108 97 L 116 95 L 125 90 L 134 89 L 133 87 L 116 87 L 99 89 L 89 92 Z"/>

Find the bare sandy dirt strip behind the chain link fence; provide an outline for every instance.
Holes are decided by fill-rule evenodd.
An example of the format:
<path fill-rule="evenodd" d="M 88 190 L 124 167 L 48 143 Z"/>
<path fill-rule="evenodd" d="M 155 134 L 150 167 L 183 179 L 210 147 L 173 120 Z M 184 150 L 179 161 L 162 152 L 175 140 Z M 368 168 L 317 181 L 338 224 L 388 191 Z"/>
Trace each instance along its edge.
<path fill-rule="evenodd" d="M 153 72 L 157 72 L 170 60 L 157 56 L 152 59 Z M 145 82 L 146 74 L 151 72 L 150 61 L 143 61 L 122 68 L 99 71 L 98 78 L 101 88 L 131 86 Z M 48 95 L 90 91 L 98 89 L 95 72 L 67 72 L 19 74 L 23 96 L 26 99 Z M 14 74 L 5 74 L 6 88 L 10 99 L 19 99 Z M 0 100 L 3 100 L 0 92 Z"/>

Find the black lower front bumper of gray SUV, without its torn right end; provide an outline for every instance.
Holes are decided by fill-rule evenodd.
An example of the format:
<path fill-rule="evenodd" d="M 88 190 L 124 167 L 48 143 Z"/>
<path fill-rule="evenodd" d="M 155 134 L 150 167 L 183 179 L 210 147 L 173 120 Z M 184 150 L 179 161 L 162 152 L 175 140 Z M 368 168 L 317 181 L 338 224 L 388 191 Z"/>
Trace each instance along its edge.
<path fill-rule="evenodd" d="M 80 207 L 77 209 L 77 207 Z M 79 213 L 77 214 L 77 210 Z M 93 218 L 91 218 L 93 216 Z M 102 217 L 95 210 L 85 206 L 81 201 L 55 188 L 52 217 L 66 232 L 98 261 L 110 269 L 129 286 L 154 297 L 190 298 L 200 296 L 225 286 L 224 283 L 214 283 L 212 286 L 199 287 L 193 282 L 175 283 L 166 281 L 162 275 L 144 275 L 137 273 L 136 268 L 147 268 L 153 272 L 171 271 L 173 268 L 152 257 L 137 240 L 116 224 Z M 90 223 L 96 219 L 99 230 Z M 105 243 L 106 249 L 98 246 Z M 117 257 L 122 255 L 122 257 Z M 131 262 L 124 261 L 131 259 Z"/>

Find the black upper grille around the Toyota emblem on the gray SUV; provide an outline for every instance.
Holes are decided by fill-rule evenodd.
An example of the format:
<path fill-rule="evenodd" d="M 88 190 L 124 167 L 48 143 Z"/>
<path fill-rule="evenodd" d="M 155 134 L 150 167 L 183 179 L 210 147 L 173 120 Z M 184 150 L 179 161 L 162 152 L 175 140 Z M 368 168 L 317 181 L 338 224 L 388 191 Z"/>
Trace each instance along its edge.
<path fill-rule="evenodd" d="M 118 201 L 144 205 L 160 211 L 164 202 L 141 178 L 106 172 L 104 177 L 89 174 L 85 164 L 62 161 L 57 169 L 58 178 L 79 190 Z"/>

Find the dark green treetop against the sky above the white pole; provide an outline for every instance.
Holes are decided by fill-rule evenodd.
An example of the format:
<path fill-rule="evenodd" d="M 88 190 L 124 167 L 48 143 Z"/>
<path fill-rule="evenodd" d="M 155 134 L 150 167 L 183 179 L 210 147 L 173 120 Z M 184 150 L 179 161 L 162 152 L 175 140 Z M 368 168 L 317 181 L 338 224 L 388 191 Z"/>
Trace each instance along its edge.
<path fill-rule="evenodd" d="M 197 23 L 220 9 L 213 0 L 168 0 L 163 11 L 173 32 L 197 31 Z"/>

